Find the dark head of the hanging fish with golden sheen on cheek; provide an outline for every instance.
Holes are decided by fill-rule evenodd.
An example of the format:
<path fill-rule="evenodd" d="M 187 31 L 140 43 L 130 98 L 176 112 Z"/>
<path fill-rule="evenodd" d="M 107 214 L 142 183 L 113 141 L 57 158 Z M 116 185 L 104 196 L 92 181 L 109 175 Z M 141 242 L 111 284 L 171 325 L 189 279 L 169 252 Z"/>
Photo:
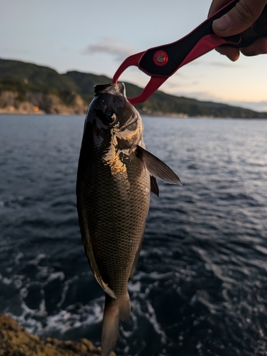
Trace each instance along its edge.
<path fill-rule="evenodd" d="M 132 150 L 142 140 L 143 122 L 126 98 L 124 83 L 94 86 L 85 128 L 87 125 L 97 146 L 114 145 L 118 150 Z"/>

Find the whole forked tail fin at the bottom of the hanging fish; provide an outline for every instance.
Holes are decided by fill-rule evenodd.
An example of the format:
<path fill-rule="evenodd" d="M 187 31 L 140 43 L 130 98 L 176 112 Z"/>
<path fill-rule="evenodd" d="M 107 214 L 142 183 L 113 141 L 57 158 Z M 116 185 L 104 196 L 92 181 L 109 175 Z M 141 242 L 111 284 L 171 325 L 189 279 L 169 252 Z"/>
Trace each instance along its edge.
<path fill-rule="evenodd" d="M 130 299 L 128 292 L 124 298 L 116 300 L 106 293 L 102 340 L 101 356 L 109 356 L 111 350 L 116 345 L 119 337 L 119 320 L 129 320 L 130 318 Z"/>

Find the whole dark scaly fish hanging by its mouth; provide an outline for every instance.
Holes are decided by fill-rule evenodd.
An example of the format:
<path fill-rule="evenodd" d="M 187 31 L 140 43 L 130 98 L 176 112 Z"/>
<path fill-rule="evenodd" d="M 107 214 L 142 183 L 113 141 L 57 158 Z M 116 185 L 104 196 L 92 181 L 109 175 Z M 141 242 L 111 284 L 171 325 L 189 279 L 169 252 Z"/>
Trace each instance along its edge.
<path fill-rule="evenodd" d="M 141 251 L 156 179 L 182 184 L 146 150 L 143 121 L 126 98 L 124 83 L 97 84 L 85 117 L 77 169 L 77 213 L 89 266 L 105 293 L 102 356 L 129 320 L 128 282 Z"/>

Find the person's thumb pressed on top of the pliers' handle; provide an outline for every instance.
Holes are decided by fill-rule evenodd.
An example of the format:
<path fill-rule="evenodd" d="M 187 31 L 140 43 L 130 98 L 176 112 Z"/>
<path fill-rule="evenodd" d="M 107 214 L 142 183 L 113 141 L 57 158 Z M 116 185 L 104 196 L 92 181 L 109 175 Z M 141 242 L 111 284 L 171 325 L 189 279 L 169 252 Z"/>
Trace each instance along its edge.
<path fill-rule="evenodd" d="M 240 0 L 231 11 L 214 20 L 212 29 L 219 36 L 234 36 L 249 28 L 263 11 L 266 0 Z"/>

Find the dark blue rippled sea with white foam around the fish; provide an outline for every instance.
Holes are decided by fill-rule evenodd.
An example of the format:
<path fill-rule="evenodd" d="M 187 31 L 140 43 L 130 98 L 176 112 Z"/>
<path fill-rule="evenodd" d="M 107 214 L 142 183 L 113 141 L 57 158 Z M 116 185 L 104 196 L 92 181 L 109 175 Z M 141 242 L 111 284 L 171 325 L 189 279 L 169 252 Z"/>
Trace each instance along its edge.
<path fill-rule="evenodd" d="M 104 292 L 77 220 L 85 117 L 0 115 L 0 313 L 100 345 Z M 267 121 L 143 117 L 158 182 L 121 356 L 267 355 Z"/>

